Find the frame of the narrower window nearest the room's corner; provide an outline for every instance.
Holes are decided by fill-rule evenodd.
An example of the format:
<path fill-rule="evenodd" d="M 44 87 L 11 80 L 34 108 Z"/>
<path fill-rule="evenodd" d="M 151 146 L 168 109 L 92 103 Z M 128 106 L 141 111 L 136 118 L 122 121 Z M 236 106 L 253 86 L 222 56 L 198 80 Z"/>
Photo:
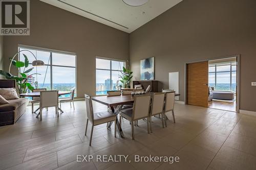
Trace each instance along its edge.
<path fill-rule="evenodd" d="M 96 60 L 97 59 L 102 59 L 102 60 L 109 60 L 110 61 L 110 69 L 104 69 L 104 68 L 96 68 Z M 110 71 L 110 82 L 111 82 L 111 89 L 110 90 L 113 90 L 112 87 L 113 87 L 113 82 L 112 82 L 112 71 L 122 71 L 122 68 L 120 70 L 117 70 L 117 69 L 112 69 L 112 61 L 118 61 L 118 62 L 123 62 L 123 66 L 125 67 L 126 65 L 126 62 L 124 60 L 117 60 L 117 59 L 111 59 L 111 58 L 104 58 L 104 57 L 95 57 L 95 95 L 97 95 L 97 89 L 96 89 L 96 85 L 97 85 L 97 80 L 96 80 L 96 72 L 97 70 L 105 70 L 105 71 Z M 106 95 L 106 94 L 98 94 L 97 96 L 100 96 L 100 95 Z"/>

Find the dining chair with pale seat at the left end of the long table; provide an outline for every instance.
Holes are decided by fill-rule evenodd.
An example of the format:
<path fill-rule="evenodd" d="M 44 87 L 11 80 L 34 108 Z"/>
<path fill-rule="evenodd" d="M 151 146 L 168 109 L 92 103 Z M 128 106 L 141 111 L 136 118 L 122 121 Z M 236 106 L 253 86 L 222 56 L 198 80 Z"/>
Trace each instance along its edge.
<path fill-rule="evenodd" d="M 101 112 L 94 113 L 91 96 L 84 94 L 84 97 L 86 101 L 86 112 L 87 112 L 86 133 L 87 133 L 88 122 L 90 121 L 90 123 L 92 124 L 89 145 L 91 146 L 91 143 L 92 143 L 93 127 L 100 124 L 115 122 L 115 137 L 116 137 L 116 119 L 117 119 L 116 115 L 112 114 L 112 112 L 110 111 L 101 111 Z"/>

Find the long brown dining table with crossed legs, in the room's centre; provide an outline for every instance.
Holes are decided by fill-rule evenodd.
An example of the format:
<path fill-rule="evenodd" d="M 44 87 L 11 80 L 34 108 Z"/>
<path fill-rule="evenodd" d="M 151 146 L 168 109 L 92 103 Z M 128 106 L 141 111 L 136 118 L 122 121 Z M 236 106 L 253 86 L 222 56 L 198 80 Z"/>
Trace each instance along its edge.
<path fill-rule="evenodd" d="M 175 93 L 175 96 L 178 96 L 178 95 L 180 94 Z M 117 116 L 119 114 L 119 111 L 123 107 L 123 105 L 129 105 L 129 104 L 131 105 L 134 103 L 134 96 L 133 95 L 116 95 L 116 96 L 102 95 L 102 96 L 94 96 L 92 97 L 92 100 L 111 108 L 112 113 L 116 115 L 117 132 L 121 138 L 124 138 L 124 134 L 122 132 L 122 128 L 120 126 Z M 108 128 L 111 127 L 112 123 L 109 124 Z"/>

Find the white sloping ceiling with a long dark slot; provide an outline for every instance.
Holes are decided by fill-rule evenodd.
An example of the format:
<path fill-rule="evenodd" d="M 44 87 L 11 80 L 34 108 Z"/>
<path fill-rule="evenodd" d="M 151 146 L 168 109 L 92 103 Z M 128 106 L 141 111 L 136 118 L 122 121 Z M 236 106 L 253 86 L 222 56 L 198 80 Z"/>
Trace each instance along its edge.
<path fill-rule="evenodd" d="M 132 7 L 122 0 L 40 0 L 104 25 L 131 33 L 182 0 L 149 0 Z"/>

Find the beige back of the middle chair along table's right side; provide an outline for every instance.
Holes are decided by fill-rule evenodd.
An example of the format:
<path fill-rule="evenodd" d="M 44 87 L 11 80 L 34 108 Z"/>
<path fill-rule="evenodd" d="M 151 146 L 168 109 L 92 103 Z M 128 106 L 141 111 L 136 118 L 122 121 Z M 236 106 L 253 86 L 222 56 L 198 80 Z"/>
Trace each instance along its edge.
<path fill-rule="evenodd" d="M 151 115 L 157 115 L 163 112 L 164 93 L 153 93 L 151 102 Z"/>

